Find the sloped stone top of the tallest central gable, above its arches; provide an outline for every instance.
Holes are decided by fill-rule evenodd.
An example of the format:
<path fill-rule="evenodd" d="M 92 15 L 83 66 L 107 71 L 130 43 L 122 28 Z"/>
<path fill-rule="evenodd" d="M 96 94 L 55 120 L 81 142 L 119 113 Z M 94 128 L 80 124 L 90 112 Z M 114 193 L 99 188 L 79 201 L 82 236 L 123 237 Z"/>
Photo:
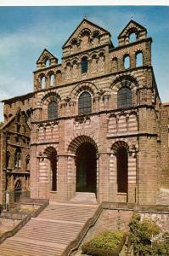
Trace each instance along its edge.
<path fill-rule="evenodd" d="M 84 18 L 84 19 L 81 21 L 81 23 L 79 24 L 79 26 L 76 27 L 75 31 L 72 32 L 72 34 L 71 34 L 70 37 L 67 39 L 67 41 L 65 42 L 65 44 L 63 45 L 62 48 L 65 48 L 67 45 L 69 45 L 71 39 L 72 39 L 72 38 L 76 38 L 76 37 L 78 36 L 79 32 L 81 32 L 81 30 L 82 30 L 83 28 L 85 28 L 85 27 L 91 29 L 92 32 L 95 31 L 95 30 L 97 30 L 97 31 L 99 31 L 101 34 L 103 34 L 103 33 L 109 33 L 109 34 L 110 34 L 110 32 L 107 31 L 106 29 L 104 29 L 103 27 L 98 26 L 98 25 L 94 24 L 93 22 L 91 22 L 91 21 L 87 20 L 86 18 Z"/>

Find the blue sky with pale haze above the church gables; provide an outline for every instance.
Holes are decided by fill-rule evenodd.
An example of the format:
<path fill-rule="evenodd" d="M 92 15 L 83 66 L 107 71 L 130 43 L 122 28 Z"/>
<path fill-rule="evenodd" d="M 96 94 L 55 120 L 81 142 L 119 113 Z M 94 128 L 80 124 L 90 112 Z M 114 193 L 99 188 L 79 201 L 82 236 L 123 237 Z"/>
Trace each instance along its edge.
<path fill-rule="evenodd" d="M 42 50 L 48 48 L 60 62 L 62 45 L 84 15 L 108 29 L 115 46 L 131 16 L 146 26 L 161 100 L 169 102 L 169 7 L 162 6 L 0 7 L 0 99 L 31 92 Z"/>

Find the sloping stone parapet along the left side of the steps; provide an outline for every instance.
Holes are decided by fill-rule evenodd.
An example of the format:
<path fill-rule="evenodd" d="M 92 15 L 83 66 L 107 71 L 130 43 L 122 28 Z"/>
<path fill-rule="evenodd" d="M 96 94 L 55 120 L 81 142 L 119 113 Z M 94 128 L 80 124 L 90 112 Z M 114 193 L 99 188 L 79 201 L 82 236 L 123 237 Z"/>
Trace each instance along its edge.
<path fill-rule="evenodd" d="M 31 218 L 36 218 L 37 215 L 38 215 L 40 212 L 42 212 L 42 210 L 43 210 L 45 207 L 48 206 L 48 204 L 49 204 L 49 201 L 46 201 L 44 204 L 42 204 L 41 207 L 39 207 L 39 208 L 37 209 L 36 212 L 28 213 L 28 215 L 27 215 L 24 219 L 22 219 L 22 220 L 20 221 L 20 223 L 17 224 L 17 225 L 14 227 L 13 230 L 9 230 L 9 231 L 3 233 L 3 235 L 0 236 L 0 244 L 1 244 L 3 241 L 5 241 L 8 237 L 14 236 L 23 226 L 25 226 L 25 224 L 26 224 Z M 11 213 L 11 214 L 12 214 L 12 213 Z"/>

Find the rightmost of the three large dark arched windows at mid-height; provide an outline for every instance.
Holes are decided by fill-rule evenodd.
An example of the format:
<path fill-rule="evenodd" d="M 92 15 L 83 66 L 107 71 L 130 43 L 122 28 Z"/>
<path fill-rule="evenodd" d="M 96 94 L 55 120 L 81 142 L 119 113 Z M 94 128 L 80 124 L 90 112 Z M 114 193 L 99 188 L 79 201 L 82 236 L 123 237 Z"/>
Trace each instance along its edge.
<path fill-rule="evenodd" d="M 132 106 L 132 93 L 130 88 L 121 87 L 117 93 L 117 108 L 129 108 Z"/>

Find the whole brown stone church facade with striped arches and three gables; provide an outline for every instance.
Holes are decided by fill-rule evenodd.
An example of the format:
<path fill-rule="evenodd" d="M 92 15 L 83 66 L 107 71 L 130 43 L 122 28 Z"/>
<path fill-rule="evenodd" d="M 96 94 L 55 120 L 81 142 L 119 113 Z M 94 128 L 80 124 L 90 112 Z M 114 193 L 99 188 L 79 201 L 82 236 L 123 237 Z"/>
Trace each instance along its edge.
<path fill-rule="evenodd" d="M 1 200 L 18 180 L 31 198 L 51 201 L 70 201 L 78 192 L 99 202 L 155 204 L 169 189 L 169 105 L 155 83 L 152 38 L 130 20 L 118 41 L 114 47 L 110 32 L 83 19 L 63 45 L 61 63 L 43 50 L 34 91 L 3 101 L 1 143 L 12 151 L 1 154 Z M 26 118 L 15 120 L 18 113 Z M 17 168 L 17 142 L 7 145 L 5 133 L 11 122 L 22 140 Z"/>

